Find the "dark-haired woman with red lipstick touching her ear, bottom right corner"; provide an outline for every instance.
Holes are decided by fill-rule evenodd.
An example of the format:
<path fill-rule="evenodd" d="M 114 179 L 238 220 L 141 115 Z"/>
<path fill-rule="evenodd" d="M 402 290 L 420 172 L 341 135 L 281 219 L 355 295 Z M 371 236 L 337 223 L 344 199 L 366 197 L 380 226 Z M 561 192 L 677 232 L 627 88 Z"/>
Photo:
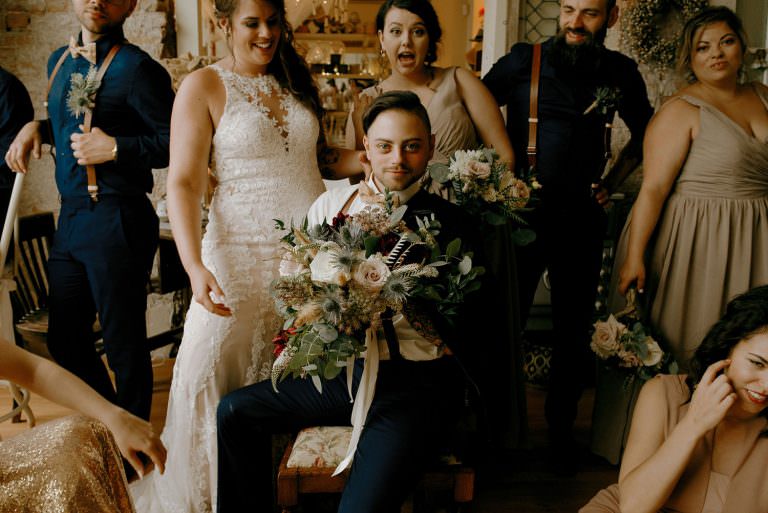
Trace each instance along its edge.
<path fill-rule="evenodd" d="M 768 286 L 728 304 L 685 376 L 648 381 L 619 483 L 579 513 L 768 511 Z"/>

